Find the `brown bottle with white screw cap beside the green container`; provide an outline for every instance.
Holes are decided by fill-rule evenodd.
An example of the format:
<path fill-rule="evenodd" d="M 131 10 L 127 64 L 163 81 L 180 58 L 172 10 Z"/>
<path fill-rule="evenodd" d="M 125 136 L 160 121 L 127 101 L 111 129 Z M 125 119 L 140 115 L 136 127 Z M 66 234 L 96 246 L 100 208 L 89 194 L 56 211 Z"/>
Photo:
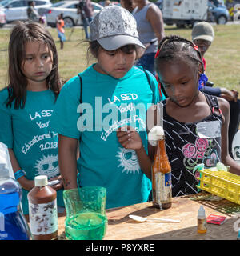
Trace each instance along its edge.
<path fill-rule="evenodd" d="M 47 185 L 47 176 L 34 178 L 35 186 L 27 195 L 30 231 L 33 240 L 58 238 L 57 192 Z"/>

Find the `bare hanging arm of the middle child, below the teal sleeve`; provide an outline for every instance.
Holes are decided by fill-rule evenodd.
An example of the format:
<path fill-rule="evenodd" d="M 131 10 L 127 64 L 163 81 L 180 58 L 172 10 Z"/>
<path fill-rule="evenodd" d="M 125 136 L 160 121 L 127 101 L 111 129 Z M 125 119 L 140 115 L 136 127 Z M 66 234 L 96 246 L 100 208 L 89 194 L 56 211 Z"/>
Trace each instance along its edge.
<path fill-rule="evenodd" d="M 78 139 L 58 134 L 58 166 L 65 190 L 76 189 Z"/>

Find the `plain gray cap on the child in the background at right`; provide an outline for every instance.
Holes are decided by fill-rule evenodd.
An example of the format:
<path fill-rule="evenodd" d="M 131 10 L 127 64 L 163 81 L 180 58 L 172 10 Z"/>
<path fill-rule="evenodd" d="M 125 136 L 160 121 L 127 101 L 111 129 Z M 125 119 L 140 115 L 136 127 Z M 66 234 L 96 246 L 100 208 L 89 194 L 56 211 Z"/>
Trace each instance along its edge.
<path fill-rule="evenodd" d="M 192 30 L 192 40 L 214 41 L 214 28 L 209 22 L 198 22 Z"/>

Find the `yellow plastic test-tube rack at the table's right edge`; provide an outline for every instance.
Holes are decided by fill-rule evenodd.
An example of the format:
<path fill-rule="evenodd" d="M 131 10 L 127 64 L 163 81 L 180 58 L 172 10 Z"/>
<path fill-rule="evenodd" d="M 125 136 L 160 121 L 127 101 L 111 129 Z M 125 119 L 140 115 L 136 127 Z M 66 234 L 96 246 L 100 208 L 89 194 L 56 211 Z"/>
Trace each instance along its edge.
<path fill-rule="evenodd" d="M 240 204 L 240 176 L 223 170 L 199 170 L 198 188 Z"/>

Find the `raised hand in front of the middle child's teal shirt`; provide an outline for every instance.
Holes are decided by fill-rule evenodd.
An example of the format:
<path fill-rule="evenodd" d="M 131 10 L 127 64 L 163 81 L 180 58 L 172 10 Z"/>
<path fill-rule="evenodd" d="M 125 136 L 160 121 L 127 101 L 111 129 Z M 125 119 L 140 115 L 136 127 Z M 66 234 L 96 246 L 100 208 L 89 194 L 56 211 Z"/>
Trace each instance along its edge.
<path fill-rule="evenodd" d="M 138 132 L 131 126 L 124 126 L 117 130 L 118 142 L 129 150 L 140 150 L 142 139 Z"/>

